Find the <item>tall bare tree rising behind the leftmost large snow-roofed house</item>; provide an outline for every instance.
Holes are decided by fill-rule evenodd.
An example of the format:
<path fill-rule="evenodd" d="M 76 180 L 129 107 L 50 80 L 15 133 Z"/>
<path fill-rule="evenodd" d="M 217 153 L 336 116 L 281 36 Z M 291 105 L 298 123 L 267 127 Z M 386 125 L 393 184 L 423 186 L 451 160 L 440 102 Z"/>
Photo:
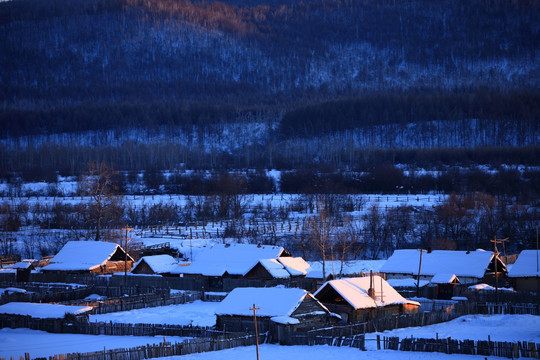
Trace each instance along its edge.
<path fill-rule="evenodd" d="M 96 241 L 101 239 L 103 224 L 119 215 L 120 191 L 115 179 L 117 175 L 118 171 L 108 164 L 92 161 L 79 179 L 79 194 L 90 197 L 89 221 L 96 226 Z"/>

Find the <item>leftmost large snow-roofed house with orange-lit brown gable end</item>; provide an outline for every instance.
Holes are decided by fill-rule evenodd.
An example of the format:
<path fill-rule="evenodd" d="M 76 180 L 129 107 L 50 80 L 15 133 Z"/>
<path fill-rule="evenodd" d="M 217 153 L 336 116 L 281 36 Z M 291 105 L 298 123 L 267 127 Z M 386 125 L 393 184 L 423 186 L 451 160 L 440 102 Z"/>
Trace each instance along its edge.
<path fill-rule="evenodd" d="M 127 271 L 133 258 L 118 244 L 102 241 L 69 241 L 44 266 L 44 273 L 112 274 Z"/>

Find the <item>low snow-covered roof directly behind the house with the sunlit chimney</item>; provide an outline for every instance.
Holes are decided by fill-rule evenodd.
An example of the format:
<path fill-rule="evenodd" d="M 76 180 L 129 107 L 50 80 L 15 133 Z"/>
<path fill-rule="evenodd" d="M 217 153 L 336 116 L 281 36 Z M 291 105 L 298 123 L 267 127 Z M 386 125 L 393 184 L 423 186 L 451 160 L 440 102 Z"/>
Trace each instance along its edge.
<path fill-rule="evenodd" d="M 359 275 L 361 273 L 378 272 L 386 260 L 348 260 L 343 263 L 343 276 Z M 322 279 L 322 261 L 309 262 L 309 268 L 306 277 L 311 279 Z M 339 275 L 341 269 L 341 261 L 326 261 L 325 270 L 326 276 L 333 274 L 334 277 Z"/>

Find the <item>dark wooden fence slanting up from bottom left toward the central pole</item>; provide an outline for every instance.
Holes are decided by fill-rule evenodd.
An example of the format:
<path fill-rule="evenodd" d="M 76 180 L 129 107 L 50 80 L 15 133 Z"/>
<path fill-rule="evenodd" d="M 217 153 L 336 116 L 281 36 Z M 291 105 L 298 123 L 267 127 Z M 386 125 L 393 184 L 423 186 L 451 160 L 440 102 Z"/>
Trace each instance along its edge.
<path fill-rule="evenodd" d="M 259 343 L 264 343 L 267 334 L 259 335 Z M 150 358 L 187 355 L 231 349 L 239 346 L 255 345 L 255 335 L 222 339 L 189 339 L 179 343 L 163 342 L 156 345 L 138 346 L 130 349 L 112 349 L 88 353 L 71 353 L 50 356 L 49 360 L 143 360 Z M 29 354 L 21 358 L 30 360 Z M 35 360 L 47 358 L 35 358 Z"/>

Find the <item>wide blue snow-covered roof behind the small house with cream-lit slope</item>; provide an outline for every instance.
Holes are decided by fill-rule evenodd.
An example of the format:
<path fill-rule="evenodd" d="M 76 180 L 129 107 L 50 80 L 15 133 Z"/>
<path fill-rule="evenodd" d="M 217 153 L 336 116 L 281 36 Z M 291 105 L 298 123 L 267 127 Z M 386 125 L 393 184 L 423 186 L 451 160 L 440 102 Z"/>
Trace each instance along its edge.
<path fill-rule="evenodd" d="M 276 259 L 285 252 L 281 246 L 216 244 L 200 251 L 188 266 L 178 266 L 173 274 L 204 276 L 245 275 L 260 259 Z"/>

